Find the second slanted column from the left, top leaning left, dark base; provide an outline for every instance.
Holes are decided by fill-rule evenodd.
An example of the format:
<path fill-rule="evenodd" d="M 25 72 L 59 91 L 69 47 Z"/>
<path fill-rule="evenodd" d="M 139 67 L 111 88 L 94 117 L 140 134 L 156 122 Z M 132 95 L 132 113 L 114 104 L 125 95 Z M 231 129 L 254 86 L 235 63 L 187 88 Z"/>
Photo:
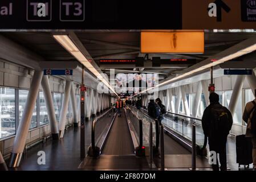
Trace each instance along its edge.
<path fill-rule="evenodd" d="M 50 122 L 52 139 L 59 140 L 58 122 L 55 115 L 54 101 L 52 100 L 48 76 L 43 76 L 41 85 L 43 88 L 44 100 L 46 101 L 47 116 Z"/>

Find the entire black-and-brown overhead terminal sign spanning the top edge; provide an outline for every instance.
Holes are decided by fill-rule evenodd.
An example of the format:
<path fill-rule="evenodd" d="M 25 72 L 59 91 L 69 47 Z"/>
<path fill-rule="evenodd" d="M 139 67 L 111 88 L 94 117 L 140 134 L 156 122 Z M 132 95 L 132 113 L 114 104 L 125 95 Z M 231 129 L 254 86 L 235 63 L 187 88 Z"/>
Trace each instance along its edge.
<path fill-rule="evenodd" d="M 1 0 L 0 29 L 255 29 L 254 2 Z"/>

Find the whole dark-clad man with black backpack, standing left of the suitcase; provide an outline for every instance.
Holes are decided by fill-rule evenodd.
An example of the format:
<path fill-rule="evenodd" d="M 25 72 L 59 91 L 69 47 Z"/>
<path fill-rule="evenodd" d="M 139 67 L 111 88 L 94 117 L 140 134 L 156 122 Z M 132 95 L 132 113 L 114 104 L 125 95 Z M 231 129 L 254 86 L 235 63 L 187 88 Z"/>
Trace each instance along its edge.
<path fill-rule="evenodd" d="M 209 148 L 211 152 L 215 152 L 215 156 L 220 154 L 221 167 L 219 168 L 218 159 L 212 165 L 213 171 L 226 171 L 226 142 L 227 135 L 233 125 L 233 118 L 230 111 L 219 103 L 219 96 L 216 93 L 211 93 L 210 105 L 206 107 L 202 116 L 202 129 L 208 137 Z"/>

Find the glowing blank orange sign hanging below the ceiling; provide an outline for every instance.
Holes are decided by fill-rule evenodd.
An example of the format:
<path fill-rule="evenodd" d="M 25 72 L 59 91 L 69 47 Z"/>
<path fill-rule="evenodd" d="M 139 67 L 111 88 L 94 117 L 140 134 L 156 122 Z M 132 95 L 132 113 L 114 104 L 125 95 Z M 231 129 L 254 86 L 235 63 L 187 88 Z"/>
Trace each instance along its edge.
<path fill-rule="evenodd" d="M 141 32 L 141 53 L 204 53 L 204 31 Z"/>

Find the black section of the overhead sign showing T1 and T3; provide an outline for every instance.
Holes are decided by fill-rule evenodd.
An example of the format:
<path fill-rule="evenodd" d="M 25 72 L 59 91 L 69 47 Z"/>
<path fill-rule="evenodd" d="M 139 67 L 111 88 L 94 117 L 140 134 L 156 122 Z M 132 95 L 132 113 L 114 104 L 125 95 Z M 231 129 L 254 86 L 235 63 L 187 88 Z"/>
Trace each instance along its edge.
<path fill-rule="evenodd" d="M 0 29 L 181 29 L 182 0 L 1 0 Z"/>

